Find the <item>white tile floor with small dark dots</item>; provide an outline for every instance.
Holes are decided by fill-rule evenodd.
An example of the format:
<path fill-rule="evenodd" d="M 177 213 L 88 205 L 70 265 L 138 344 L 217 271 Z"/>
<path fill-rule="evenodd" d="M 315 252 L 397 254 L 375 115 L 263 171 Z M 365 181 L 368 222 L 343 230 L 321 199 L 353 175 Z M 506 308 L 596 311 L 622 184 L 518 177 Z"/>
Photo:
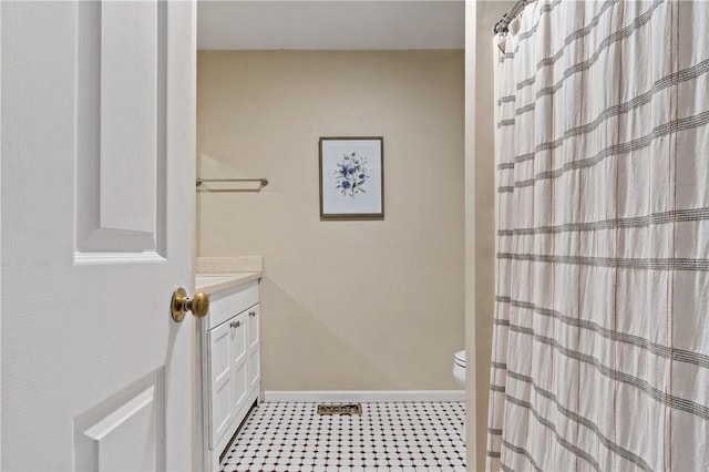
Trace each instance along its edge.
<path fill-rule="evenodd" d="M 318 415 L 317 403 L 261 403 L 222 471 L 464 472 L 463 402 L 362 403 L 362 415 Z"/>

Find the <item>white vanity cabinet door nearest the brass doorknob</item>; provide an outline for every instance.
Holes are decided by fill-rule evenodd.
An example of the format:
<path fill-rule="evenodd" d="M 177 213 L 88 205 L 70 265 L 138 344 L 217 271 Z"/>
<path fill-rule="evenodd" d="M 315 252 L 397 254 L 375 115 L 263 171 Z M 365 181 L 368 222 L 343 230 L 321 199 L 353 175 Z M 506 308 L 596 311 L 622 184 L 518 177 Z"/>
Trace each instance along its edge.
<path fill-rule="evenodd" d="M 217 441 L 234 420 L 235 382 L 233 370 L 233 329 L 229 321 L 208 331 L 209 367 L 209 447 Z"/>

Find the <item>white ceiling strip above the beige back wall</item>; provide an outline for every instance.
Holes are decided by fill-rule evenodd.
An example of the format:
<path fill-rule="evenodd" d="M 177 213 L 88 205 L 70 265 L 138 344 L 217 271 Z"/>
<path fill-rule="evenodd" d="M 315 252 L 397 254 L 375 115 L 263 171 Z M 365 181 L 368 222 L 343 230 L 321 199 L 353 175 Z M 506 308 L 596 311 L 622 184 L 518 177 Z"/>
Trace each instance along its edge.
<path fill-rule="evenodd" d="M 463 0 L 197 2 L 198 49 L 462 49 Z"/>

